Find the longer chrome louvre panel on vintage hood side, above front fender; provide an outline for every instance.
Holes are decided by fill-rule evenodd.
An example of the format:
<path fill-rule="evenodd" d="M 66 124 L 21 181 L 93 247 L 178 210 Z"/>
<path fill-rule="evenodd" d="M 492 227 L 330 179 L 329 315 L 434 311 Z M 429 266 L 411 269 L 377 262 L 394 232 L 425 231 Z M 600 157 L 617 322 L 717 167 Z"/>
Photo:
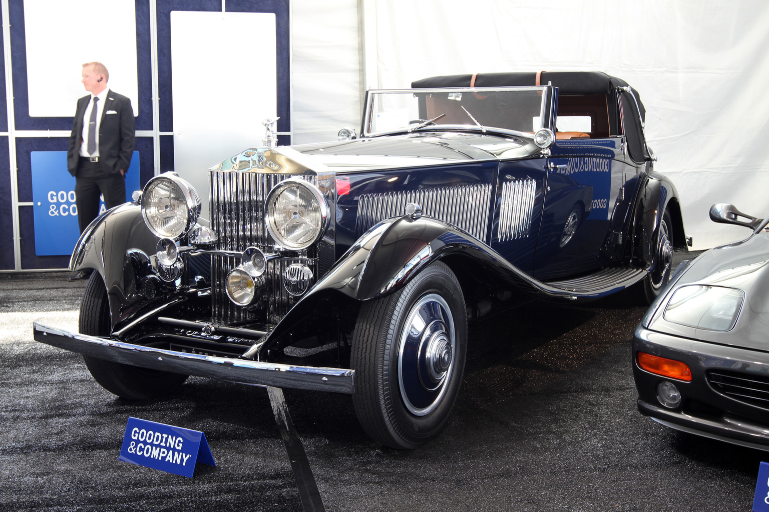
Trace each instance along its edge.
<path fill-rule="evenodd" d="M 358 236 L 382 220 L 401 216 L 408 203 L 417 203 L 425 216 L 460 227 L 486 241 L 491 184 L 440 187 L 405 192 L 361 195 L 358 202 Z"/>

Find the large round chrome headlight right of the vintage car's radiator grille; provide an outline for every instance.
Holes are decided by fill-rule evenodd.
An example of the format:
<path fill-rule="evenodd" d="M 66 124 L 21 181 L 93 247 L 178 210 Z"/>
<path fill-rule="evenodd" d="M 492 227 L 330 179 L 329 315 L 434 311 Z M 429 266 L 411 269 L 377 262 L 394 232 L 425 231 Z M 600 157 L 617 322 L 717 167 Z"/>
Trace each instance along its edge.
<path fill-rule="evenodd" d="M 265 201 L 267 230 L 280 246 L 301 250 L 323 236 L 328 227 L 328 202 L 305 180 L 281 181 Z"/>

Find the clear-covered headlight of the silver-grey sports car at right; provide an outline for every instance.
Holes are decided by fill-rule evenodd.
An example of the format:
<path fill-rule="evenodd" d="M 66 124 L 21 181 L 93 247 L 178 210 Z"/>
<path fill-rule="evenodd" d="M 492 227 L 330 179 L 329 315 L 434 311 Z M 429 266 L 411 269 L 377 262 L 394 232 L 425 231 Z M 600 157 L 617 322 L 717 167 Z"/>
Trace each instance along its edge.
<path fill-rule="evenodd" d="M 667 302 L 664 319 L 696 329 L 728 331 L 737 322 L 744 299 L 744 292 L 736 288 L 681 286 Z"/>

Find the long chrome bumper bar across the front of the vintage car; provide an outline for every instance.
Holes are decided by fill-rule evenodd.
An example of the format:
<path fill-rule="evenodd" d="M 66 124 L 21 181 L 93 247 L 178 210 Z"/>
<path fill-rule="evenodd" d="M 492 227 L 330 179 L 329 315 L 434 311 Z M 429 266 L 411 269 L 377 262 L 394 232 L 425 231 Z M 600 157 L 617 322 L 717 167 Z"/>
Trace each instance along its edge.
<path fill-rule="evenodd" d="M 355 392 L 355 371 L 345 368 L 278 365 L 188 354 L 67 332 L 38 322 L 35 322 L 34 335 L 38 342 L 125 365 L 275 388 L 332 391 L 345 395 Z"/>

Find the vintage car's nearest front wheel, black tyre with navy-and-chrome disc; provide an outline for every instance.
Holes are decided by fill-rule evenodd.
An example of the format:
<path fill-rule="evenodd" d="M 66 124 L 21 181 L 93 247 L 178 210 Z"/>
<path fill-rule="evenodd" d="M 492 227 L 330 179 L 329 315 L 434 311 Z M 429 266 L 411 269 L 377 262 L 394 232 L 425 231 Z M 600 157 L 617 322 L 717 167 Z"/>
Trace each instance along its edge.
<path fill-rule="evenodd" d="M 467 325 L 459 282 L 440 262 L 398 292 L 364 302 L 351 353 L 352 399 L 371 438 L 413 449 L 441 431 L 464 372 Z"/>

